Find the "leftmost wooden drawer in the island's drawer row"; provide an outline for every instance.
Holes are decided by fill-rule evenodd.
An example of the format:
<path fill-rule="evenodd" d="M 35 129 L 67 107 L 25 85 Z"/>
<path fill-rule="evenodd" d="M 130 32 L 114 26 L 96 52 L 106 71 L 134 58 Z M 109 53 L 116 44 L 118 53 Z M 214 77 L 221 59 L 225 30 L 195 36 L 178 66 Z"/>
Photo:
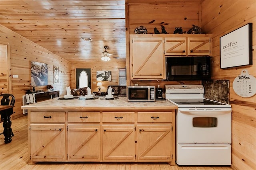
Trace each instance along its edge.
<path fill-rule="evenodd" d="M 30 113 L 31 122 L 65 122 L 65 112 L 31 112 Z"/>

